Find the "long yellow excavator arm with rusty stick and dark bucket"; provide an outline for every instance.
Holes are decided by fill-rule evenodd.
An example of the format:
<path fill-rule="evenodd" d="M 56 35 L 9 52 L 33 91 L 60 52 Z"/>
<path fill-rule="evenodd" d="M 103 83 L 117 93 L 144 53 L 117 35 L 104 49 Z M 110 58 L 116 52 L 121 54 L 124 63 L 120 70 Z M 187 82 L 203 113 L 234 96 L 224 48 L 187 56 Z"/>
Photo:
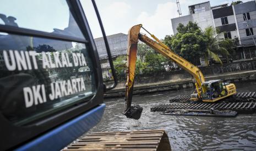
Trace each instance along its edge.
<path fill-rule="evenodd" d="M 135 25 L 130 28 L 128 32 L 128 48 L 127 48 L 127 82 L 126 82 L 126 94 L 125 94 L 125 105 L 123 114 L 127 116 L 127 118 L 139 119 L 141 112 L 143 110 L 142 107 L 138 105 L 132 106 L 132 95 L 133 95 L 133 85 L 134 85 L 134 77 L 135 77 L 135 62 L 137 59 L 137 46 L 138 41 L 144 42 L 149 45 L 152 49 L 156 50 L 158 53 L 166 56 L 171 59 L 173 62 L 177 63 L 178 66 L 189 72 L 195 78 L 195 87 L 198 92 L 198 97 L 200 97 L 200 89 L 201 84 L 204 83 L 204 75 L 201 73 L 200 69 L 197 66 L 194 66 L 189 61 L 183 59 L 181 56 L 174 53 L 170 48 L 168 48 L 164 43 L 162 43 L 159 39 L 157 39 L 153 34 L 149 33 L 150 36 L 154 39 L 152 40 L 145 34 L 140 33 L 140 28 L 143 28 L 141 24 Z"/>

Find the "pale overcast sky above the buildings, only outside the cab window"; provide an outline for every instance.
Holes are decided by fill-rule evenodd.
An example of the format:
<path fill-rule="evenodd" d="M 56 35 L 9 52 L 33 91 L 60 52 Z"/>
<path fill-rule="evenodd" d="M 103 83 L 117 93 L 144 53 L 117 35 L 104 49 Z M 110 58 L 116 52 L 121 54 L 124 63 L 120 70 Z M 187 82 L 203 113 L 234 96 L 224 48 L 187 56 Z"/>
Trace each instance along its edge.
<path fill-rule="evenodd" d="M 158 38 L 173 34 L 171 18 L 177 18 L 176 0 L 95 0 L 107 35 L 128 33 L 133 25 L 143 26 Z M 188 5 L 207 0 L 179 0 L 182 15 L 188 15 Z M 247 2 L 248 0 L 243 0 Z M 95 14 L 88 0 L 81 0 L 95 38 L 102 37 Z M 232 0 L 211 0 L 210 5 L 231 3 Z"/>

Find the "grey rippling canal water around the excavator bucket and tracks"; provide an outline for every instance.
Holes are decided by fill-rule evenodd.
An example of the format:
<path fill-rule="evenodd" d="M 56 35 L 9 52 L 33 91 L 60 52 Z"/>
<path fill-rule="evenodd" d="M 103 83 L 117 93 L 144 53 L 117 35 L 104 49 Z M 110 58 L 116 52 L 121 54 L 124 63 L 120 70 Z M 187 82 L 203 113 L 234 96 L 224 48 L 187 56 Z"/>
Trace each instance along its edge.
<path fill-rule="evenodd" d="M 237 83 L 237 91 L 256 91 L 256 82 Z M 90 132 L 165 129 L 172 150 L 256 150 L 256 114 L 239 114 L 236 118 L 184 117 L 160 115 L 150 107 L 168 103 L 170 97 L 191 94 L 192 89 L 135 95 L 133 104 L 140 104 L 139 120 L 127 119 L 123 98 L 105 100 L 101 122 Z"/>

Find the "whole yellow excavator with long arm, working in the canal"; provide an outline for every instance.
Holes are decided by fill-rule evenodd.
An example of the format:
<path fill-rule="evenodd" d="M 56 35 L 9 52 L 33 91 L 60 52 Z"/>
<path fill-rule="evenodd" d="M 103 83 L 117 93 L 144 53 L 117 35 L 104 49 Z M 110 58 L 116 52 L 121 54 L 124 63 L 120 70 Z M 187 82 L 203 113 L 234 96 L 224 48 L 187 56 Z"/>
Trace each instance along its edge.
<path fill-rule="evenodd" d="M 145 34 L 140 33 L 140 28 L 143 28 L 154 39 L 149 38 Z M 200 69 L 174 53 L 158 38 L 148 32 L 141 24 L 135 25 L 130 28 L 128 32 L 128 48 L 127 48 L 127 83 L 126 94 L 123 114 L 127 118 L 139 119 L 142 107 L 138 105 L 132 106 L 133 84 L 135 76 L 135 63 L 137 59 L 137 46 L 138 40 L 149 45 L 152 49 L 158 53 L 166 56 L 175 62 L 179 67 L 192 74 L 195 79 L 195 91 L 190 95 L 191 101 L 203 101 L 203 102 L 216 102 L 222 100 L 228 96 L 236 94 L 236 86 L 232 83 L 225 83 L 223 80 L 209 80 L 205 81 L 203 73 Z"/>

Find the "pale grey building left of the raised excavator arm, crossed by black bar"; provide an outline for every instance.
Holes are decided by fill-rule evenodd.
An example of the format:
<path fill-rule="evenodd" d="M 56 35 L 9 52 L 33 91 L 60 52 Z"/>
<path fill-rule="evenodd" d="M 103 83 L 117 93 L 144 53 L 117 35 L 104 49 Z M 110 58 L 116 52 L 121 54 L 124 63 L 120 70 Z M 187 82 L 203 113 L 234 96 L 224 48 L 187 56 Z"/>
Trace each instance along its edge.
<path fill-rule="evenodd" d="M 101 61 L 102 75 L 104 78 L 110 77 L 110 63 L 108 62 L 104 38 L 100 37 L 94 40 Z M 127 40 L 128 35 L 124 33 L 117 33 L 107 36 L 112 58 L 127 55 Z"/>

